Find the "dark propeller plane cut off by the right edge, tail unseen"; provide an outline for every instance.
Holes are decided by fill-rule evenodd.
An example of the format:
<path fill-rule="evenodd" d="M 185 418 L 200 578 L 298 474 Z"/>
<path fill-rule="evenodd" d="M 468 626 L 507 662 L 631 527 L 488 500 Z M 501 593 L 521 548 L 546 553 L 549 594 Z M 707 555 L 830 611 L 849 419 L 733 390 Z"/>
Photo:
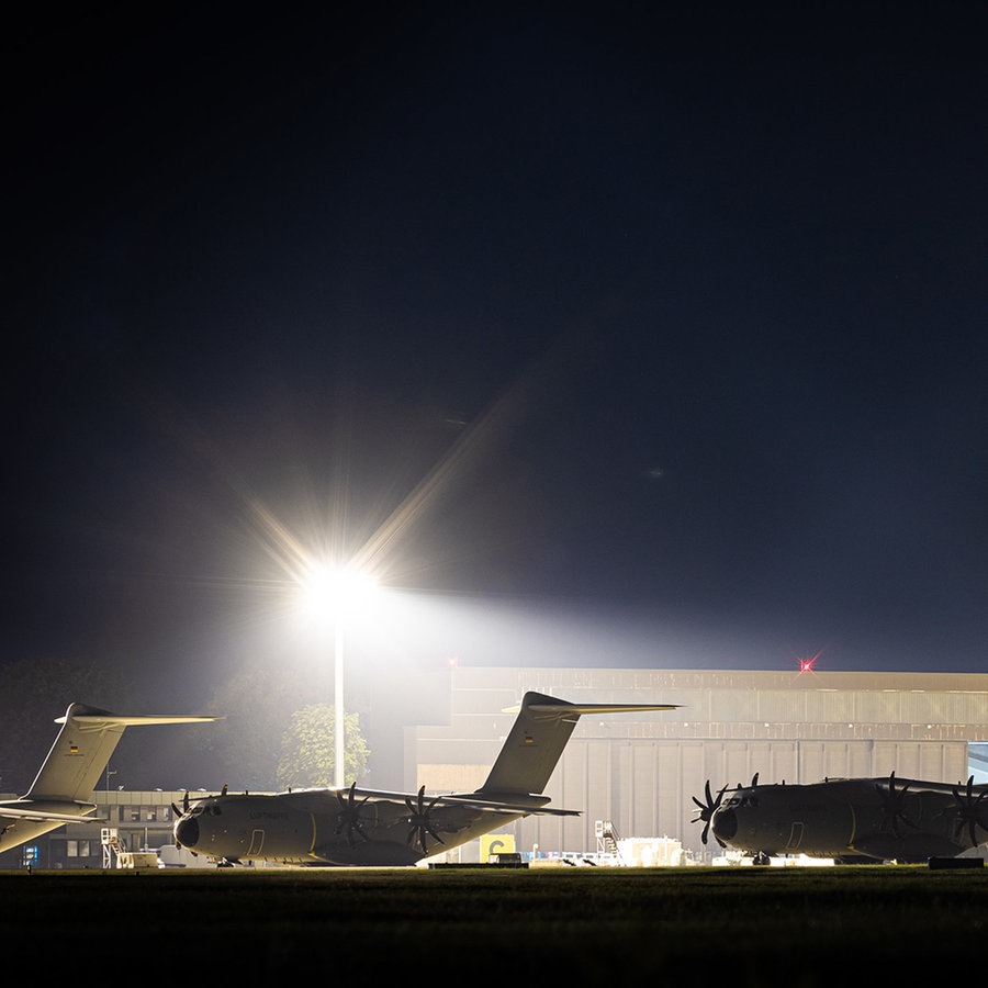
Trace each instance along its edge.
<path fill-rule="evenodd" d="M 721 847 L 767 864 L 773 855 L 805 854 L 841 862 L 927 862 L 956 857 L 988 840 L 988 786 L 914 778 L 827 778 L 725 786 L 705 800 L 693 797 Z"/>

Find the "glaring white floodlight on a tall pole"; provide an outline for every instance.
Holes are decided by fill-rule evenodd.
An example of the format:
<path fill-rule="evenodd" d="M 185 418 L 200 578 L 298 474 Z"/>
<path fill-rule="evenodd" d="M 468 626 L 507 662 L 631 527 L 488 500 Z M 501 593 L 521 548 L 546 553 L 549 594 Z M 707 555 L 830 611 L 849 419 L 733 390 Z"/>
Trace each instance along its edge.
<path fill-rule="evenodd" d="M 302 584 L 302 603 L 310 616 L 321 625 L 333 625 L 334 730 L 336 754 L 334 778 L 336 788 L 346 785 L 346 714 L 344 710 L 344 664 L 346 625 L 372 603 L 377 590 L 373 579 L 352 566 L 319 565 Z"/>

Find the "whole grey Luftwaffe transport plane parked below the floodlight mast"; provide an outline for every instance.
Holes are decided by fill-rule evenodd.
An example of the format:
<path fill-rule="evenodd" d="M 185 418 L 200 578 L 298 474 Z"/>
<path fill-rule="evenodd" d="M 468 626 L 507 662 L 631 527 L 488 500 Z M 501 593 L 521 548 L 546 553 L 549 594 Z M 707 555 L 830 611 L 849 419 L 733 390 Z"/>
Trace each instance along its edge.
<path fill-rule="evenodd" d="M 189 801 L 176 844 L 217 865 L 271 862 L 305 866 L 414 865 L 532 813 L 554 809 L 542 795 L 584 714 L 673 710 L 669 704 L 571 704 L 526 693 L 486 782 L 472 793 L 426 795 L 349 788 L 297 789 L 276 795 L 229 794 Z"/>

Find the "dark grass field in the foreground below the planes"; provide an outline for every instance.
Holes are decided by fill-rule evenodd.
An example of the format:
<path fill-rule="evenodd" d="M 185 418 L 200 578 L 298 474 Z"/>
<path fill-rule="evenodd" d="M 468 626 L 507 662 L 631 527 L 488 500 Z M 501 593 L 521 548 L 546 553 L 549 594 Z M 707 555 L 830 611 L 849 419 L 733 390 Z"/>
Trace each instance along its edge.
<path fill-rule="evenodd" d="M 988 869 L 901 865 L 0 872 L 0 897 L 4 953 L 128 980 L 841 988 L 930 961 L 977 980 L 988 935 Z"/>

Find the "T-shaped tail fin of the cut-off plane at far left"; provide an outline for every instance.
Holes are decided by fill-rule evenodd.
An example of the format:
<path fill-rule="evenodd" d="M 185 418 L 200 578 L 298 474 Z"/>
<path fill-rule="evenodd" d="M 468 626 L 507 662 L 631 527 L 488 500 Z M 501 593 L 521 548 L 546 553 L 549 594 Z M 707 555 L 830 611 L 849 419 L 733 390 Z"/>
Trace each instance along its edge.
<path fill-rule="evenodd" d="M 25 799 L 86 801 L 128 727 L 147 723 L 198 723 L 215 717 L 120 715 L 85 704 L 70 704 L 56 719 L 61 730 L 31 784 Z"/>

